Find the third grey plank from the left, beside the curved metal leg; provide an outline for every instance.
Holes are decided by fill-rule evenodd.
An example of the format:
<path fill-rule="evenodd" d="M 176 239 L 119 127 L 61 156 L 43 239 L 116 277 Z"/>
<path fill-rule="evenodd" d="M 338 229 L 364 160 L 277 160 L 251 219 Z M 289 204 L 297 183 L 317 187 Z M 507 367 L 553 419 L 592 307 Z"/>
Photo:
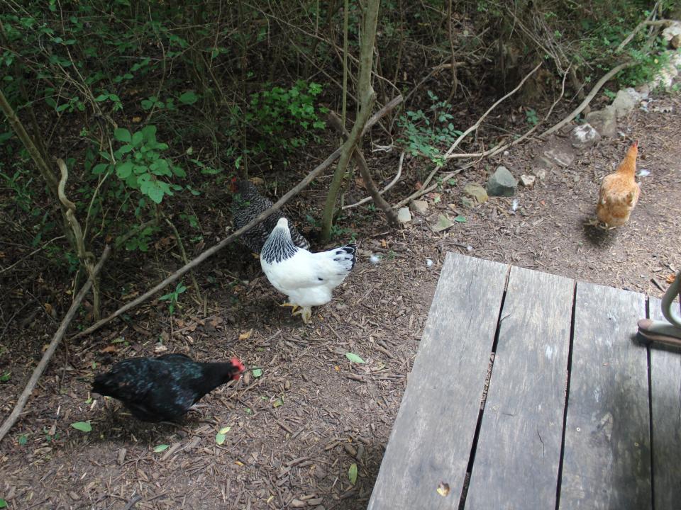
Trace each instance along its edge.
<path fill-rule="evenodd" d="M 560 509 L 648 509 L 648 352 L 642 294 L 577 283 Z"/>

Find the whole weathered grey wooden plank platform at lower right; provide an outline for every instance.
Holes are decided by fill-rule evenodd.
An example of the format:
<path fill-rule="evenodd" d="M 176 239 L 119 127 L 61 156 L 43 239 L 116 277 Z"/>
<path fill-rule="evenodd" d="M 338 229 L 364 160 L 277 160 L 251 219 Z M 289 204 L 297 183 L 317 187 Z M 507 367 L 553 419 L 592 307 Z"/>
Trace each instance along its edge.
<path fill-rule="evenodd" d="M 681 509 L 681 353 L 638 341 L 647 313 L 448 254 L 369 509 Z"/>

